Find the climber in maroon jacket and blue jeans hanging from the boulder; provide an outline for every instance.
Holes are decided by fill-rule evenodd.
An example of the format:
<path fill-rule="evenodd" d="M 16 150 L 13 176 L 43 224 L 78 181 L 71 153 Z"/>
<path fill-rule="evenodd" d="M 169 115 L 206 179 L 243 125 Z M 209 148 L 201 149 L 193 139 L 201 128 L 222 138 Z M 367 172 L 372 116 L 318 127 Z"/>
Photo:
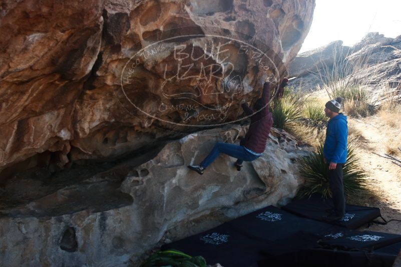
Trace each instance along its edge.
<path fill-rule="evenodd" d="M 262 97 L 255 104 L 254 111 L 243 100 L 241 106 L 246 115 L 250 116 L 251 123 L 245 137 L 241 139 L 239 145 L 231 143 L 216 143 L 212 151 L 199 165 L 189 165 L 188 168 L 203 174 L 204 170 L 219 156 L 220 153 L 237 158 L 234 165 L 237 170 L 241 170 L 243 161 L 252 161 L 258 158 L 266 147 L 266 140 L 269 136 L 270 128 L 273 125 L 272 114 L 268 108 L 270 99 L 270 82 L 263 84 Z"/>

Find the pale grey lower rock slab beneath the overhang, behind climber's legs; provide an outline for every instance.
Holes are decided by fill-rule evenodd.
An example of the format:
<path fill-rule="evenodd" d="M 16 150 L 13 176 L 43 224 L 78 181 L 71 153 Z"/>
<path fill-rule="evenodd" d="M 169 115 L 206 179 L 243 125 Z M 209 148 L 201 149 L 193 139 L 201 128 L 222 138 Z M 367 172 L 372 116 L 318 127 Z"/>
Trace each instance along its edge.
<path fill-rule="evenodd" d="M 285 131 L 272 128 L 264 154 L 244 162 L 241 171 L 226 155 L 203 175 L 187 168 L 202 160 L 217 141 L 238 142 L 245 130 L 227 125 L 189 134 L 113 166 L 71 170 L 68 177 L 73 181 L 64 172 L 53 177 L 55 183 L 41 180 L 45 174 L 40 170 L 36 176 L 24 176 L 22 183 L 28 188 L 21 194 L 30 201 L 1 211 L 0 262 L 119 266 L 131 258 L 139 263 L 146 250 L 166 240 L 262 206 L 286 203 L 302 182 L 296 158 L 308 149 Z M 13 183 L 6 188 L 12 190 Z M 40 188 L 48 191 L 37 192 Z"/>

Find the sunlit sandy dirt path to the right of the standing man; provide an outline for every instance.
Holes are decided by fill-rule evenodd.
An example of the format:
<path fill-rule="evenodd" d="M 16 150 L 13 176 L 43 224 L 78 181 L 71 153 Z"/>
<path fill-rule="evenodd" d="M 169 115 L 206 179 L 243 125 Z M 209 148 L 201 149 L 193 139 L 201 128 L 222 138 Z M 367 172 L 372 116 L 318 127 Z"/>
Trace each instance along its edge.
<path fill-rule="evenodd" d="M 364 204 L 379 207 L 387 221 L 401 220 L 401 162 L 383 157 L 387 153 L 383 140 L 386 134 L 391 133 L 380 124 L 378 116 L 348 118 L 348 127 L 361 142 L 358 152 L 361 165 L 369 174 L 370 189 L 377 195 L 377 198 L 365 199 Z M 401 160 L 401 157 L 395 157 Z M 373 224 L 361 230 L 401 234 L 401 221 L 393 220 L 386 225 Z"/>

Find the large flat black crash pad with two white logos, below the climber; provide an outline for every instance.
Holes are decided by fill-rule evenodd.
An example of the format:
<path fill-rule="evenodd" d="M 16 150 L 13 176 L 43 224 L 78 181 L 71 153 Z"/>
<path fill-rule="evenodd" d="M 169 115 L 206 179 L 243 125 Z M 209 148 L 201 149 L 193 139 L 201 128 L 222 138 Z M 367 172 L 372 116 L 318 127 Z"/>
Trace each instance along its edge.
<path fill-rule="evenodd" d="M 304 234 L 297 234 L 300 231 Z M 339 231 L 349 230 L 267 206 L 205 232 L 165 244 L 162 249 L 174 248 L 190 255 L 201 255 L 208 264 L 249 266 L 269 253 L 279 255 L 314 247 L 317 240 Z"/>

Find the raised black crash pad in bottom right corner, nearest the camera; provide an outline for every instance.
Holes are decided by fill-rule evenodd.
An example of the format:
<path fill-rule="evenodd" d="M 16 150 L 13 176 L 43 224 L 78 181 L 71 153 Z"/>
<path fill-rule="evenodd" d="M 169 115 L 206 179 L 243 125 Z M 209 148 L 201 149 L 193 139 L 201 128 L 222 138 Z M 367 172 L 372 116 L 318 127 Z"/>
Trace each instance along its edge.
<path fill-rule="evenodd" d="M 340 226 L 334 226 L 331 229 L 331 233 L 324 236 L 300 231 L 288 238 L 267 244 L 265 250 L 261 251 L 265 257 L 258 261 L 258 266 L 392 266 L 401 247 L 401 242 L 383 246 L 377 250 L 372 250 L 374 248 L 374 244 L 372 245 L 372 243 L 367 245 L 347 244 L 348 246 L 363 248 L 349 248 L 341 245 L 327 245 L 323 247 L 320 245 L 321 239 L 335 242 L 341 236 L 355 236 L 366 233 L 380 234 L 381 236 L 387 235 L 381 232 L 360 232 Z M 386 240 L 381 242 L 381 245 L 394 240 L 394 238 L 391 238 L 394 236 L 387 235 L 385 237 Z M 366 248 L 370 248 L 370 250 Z"/>

